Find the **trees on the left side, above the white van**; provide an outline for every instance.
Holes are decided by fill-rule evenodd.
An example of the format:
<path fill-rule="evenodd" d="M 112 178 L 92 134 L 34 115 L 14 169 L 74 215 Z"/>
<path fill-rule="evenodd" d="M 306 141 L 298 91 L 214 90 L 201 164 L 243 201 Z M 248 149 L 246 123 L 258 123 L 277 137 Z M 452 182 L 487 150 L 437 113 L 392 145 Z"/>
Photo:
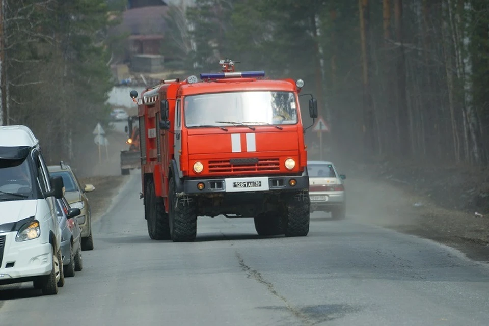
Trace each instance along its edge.
<path fill-rule="evenodd" d="M 106 31 L 109 13 L 122 2 L 114 8 L 100 0 L 0 3 L 3 124 L 28 125 L 50 161 L 82 155 L 79 140 L 110 112 L 105 103 L 114 83 Z"/>

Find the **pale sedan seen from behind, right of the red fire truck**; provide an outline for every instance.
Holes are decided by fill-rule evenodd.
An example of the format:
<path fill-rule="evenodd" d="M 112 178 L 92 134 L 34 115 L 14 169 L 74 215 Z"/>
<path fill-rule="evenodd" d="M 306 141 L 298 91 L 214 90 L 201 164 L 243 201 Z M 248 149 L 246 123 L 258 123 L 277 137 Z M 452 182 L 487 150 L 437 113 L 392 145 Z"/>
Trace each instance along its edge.
<path fill-rule="evenodd" d="M 308 161 L 309 199 L 311 212 L 331 212 L 334 220 L 346 216 L 346 193 L 343 180 L 346 176 L 339 174 L 335 165 L 328 161 Z"/>

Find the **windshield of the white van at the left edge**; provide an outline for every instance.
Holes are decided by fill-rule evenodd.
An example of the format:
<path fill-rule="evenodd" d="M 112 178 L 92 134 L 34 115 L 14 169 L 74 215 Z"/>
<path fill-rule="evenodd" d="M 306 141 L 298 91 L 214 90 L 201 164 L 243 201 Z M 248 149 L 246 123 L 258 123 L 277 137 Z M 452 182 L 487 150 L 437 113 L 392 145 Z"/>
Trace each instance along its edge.
<path fill-rule="evenodd" d="M 26 158 L 0 159 L 0 200 L 31 198 L 32 187 L 33 178 Z"/>

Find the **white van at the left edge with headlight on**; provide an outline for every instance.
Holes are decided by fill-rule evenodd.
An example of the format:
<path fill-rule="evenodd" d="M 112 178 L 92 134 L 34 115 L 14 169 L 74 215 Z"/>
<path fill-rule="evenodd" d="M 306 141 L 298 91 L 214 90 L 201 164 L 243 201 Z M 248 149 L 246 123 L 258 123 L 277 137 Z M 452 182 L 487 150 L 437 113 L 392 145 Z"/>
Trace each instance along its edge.
<path fill-rule="evenodd" d="M 39 141 L 26 126 L 0 127 L 0 285 L 34 282 L 43 294 L 64 285 L 55 198 Z"/>

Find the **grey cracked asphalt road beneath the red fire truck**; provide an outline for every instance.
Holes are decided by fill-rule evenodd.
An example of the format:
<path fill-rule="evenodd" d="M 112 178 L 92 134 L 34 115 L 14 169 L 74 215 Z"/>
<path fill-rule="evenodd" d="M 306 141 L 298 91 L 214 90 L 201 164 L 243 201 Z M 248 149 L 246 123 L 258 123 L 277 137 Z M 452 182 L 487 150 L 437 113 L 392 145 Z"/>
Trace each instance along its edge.
<path fill-rule="evenodd" d="M 201 218 L 152 241 L 133 175 L 57 296 L 3 287 L 0 325 L 487 325 L 489 269 L 434 242 L 313 218 L 304 238 Z M 315 215 L 317 216 L 317 215 Z"/>

